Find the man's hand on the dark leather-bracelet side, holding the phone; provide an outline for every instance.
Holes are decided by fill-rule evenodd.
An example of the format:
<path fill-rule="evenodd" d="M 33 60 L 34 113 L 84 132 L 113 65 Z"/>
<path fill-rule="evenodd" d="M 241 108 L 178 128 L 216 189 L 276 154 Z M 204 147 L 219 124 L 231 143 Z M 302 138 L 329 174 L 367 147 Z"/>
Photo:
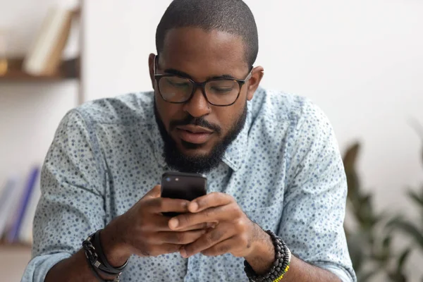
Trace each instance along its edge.
<path fill-rule="evenodd" d="M 200 222 L 178 228 L 168 227 L 163 212 L 188 212 L 187 200 L 160 197 L 160 185 L 150 190 L 128 212 L 118 216 L 100 233 L 106 257 L 112 265 L 121 265 L 130 255 L 158 256 L 178 252 L 180 247 L 194 242 L 207 231 Z"/>

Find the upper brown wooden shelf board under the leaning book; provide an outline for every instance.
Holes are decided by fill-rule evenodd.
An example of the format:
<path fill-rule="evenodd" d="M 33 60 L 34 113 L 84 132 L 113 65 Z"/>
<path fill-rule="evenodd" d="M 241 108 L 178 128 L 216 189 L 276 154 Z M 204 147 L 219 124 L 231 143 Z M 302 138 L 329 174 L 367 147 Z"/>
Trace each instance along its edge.
<path fill-rule="evenodd" d="M 57 73 L 53 75 L 30 75 L 22 70 L 22 58 L 8 59 L 8 71 L 0 75 L 0 82 L 52 82 L 69 79 L 79 79 L 80 59 L 66 60 L 61 63 Z"/>

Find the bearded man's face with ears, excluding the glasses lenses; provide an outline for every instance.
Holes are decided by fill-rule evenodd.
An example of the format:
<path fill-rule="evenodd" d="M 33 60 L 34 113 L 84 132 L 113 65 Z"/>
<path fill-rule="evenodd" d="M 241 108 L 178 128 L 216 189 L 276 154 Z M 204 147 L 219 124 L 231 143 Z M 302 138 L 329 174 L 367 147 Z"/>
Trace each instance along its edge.
<path fill-rule="evenodd" d="M 204 82 L 223 75 L 244 80 L 250 71 L 243 40 L 226 32 L 177 28 L 167 33 L 164 46 L 156 62 L 157 74 L 178 73 L 195 82 Z M 188 102 L 166 102 L 154 80 L 153 54 L 149 57 L 149 66 L 166 161 L 180 171 L 208 171 L 216 166 L 226 147 L 242 130 L 247 114 L 246 102 L 252 99 L 259 85 L 262 68 L 255 68 L 234 104 L 214 106 L 207 102 L 200 87 Z"/>

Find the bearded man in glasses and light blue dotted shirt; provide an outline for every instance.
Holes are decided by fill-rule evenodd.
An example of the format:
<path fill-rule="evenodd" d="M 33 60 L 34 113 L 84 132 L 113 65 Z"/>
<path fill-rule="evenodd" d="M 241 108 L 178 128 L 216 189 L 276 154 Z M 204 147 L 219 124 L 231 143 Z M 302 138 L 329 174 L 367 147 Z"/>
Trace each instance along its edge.
<path fill-rule="evenodd" d="M 175 0 L 156 44 L 154 92 L 61 121 L 23 281 L 355 281 L 333 130 L 307 99 L 259 88 L 250 9 Z M 166 171 L 205 173 L 208 194 L 160 197 Z"/>

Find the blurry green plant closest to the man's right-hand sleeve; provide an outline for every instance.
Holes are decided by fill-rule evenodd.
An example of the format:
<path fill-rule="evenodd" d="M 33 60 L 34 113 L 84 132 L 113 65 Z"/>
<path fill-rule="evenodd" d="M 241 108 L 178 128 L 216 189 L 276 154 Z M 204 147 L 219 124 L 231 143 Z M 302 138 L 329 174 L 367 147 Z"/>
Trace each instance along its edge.
<path fill-rule="evenodd" d="M 345 234 L 357 281 L 371 281 L 374 275 L 383 273 L 391 281 L 405 282 L 403 267 L 410 249 L 399 254 L 393 251 L 392 233 L 385 228 L 389 216 L 374 211 L 372 193 L 360 185 L 356 169 L 359 152 L 360 144 L 355 143 L 343 157 L 348 183 L 347 212 L 356 223 L 355 228 L 345 226 Z"/>

